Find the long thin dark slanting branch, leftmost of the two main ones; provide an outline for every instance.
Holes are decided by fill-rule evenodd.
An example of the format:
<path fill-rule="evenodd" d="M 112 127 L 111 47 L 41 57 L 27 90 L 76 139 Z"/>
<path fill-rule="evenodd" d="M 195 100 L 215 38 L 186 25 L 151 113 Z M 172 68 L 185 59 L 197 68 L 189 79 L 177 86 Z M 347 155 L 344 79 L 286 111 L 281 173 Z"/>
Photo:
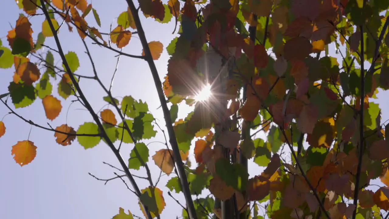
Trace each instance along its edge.
<path fill-rule="evenodd" d="M 92 115 L 93 117 L 93 120 L 95 120 L 98 128 L 100 129 L 101 133 L 102 133 L 102 137 L 103 139 L 107 142 L 107 145 L 111 148 L 112 152 L 114 152 L 116 158 L 118 159 L 118 161 L 120 162 L 123 170 L 125 171 L 126 173 L 126 176 L 128 177 L 128 179 L 130 180 L 131 182 L 131 185 L 133 186 L 133 188 L 135 189 L 135 193 L 140 196 L 142 193 L 140 192 L 139 188 L 138 188 L 138 185 L 137 183 L 135 182 L 135 179 L 133 178 L 133 176 L 131 175 L 131 172 L 130 170 L 127 168 L 127 165 L 126 163 L 124 162 L 123 160 L 123 157 L 121 157 L 120 153 L 118 150 L 116 150 L 114 144 L 112 143 L 112 141 L 109 139 L 109 137 L 107 136 L 107 133 L 105 132 L 104 128 L 103 128 L 103 125 L 102 123 L 100 122 L 98 116 L 96 115 L 96 113 L 93 111 L 93 108 L 92 106 L 89 104 L 88 100 L 86 99 L 85 95 L 82 93 L 82 90 L 79 86 L 79 84 L 77 83 L 76 79 L 74 78 L 74 75 L 73 75 L 73 72 L 70 70 L 70 67 L 69 67 L 69 64 L 65 58 L 65 54 L 63 53 L 63 50 L 62 50 L 62 47 L 61 47 L 61 43 L 60 43 L 60 40 L 58 39 L 58 34 L 53 26 L 53 22 L 51 21 L 50 19 L 50 16 L 49 16 L 49 13 L 47 12 L 47 9 L 46 9 L 46 1 L 45 0 L 40 0 L 40 3 L 42 5 L 42 11 L 44 12 L 45 14 L 45 17 L 46 17 L 46 20 L 48 21 L 49 23 L 49 26 L 50 26 L 50 30 L 51 32 L 53 32 L 53 35 L 54 35 L 54 40 L 56 42 L 56 45 L 57 45 L 57 48 L 58 48 L 58 51 L 60 53 L 60 56 L 61 56 L 61 59 L 62 59 L 62 62 L 63 62 L 63 65 L 65 66 L 65 69 L 67 71 L 67 73 L 69 74 L 70 76 L 70 79 L 72 80 L 72 83 L 74 84 L 75 88 L 77 89 L 79 95 L 80 95 L 80 98 L 82 99 L 82 101 L 84 102 L 86 108 L 88 109 L 89 113 Z M 147 208 L 147 206 L 145 206 L 142 201 L 140 201 L 141 205 L 143 205 L 143 209 L 145 210 L 145 212 L 147 212 L 147 217 L 149 219 L 152 219 L 152 216 Z"/>

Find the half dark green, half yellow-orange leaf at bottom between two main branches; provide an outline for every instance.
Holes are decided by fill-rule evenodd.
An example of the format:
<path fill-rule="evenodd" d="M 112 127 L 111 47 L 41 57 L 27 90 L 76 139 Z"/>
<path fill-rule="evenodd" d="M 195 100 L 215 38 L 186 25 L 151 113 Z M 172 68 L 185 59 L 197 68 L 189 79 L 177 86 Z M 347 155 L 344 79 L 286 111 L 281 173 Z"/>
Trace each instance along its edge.
<path fill-rule="evenodd" d="M 158 189 L 157 187 L 147 187 L 145 189 L 141 190 L 142 194 L 139 197 L 139 200 L 142 201 L 144 205 L 147 206 L 151 217 L 159 216 L 162 213 L 162 210 L 165 208 L 166 203 L 165 199 L 163 198 L 162 191 Z M 140 208 L 147 217 L 147 214 L 145 214 L 144 209 L 142 208 L 142 205 L 140 205 Z"/>

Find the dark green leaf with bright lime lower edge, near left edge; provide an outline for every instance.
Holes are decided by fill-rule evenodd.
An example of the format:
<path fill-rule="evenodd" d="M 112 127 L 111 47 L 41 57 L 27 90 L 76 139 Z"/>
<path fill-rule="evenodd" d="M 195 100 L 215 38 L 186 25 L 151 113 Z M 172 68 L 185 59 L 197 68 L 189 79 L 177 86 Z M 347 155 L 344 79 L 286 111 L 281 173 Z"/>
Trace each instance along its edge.
<path fill-rule="evenodd" d="M 29 106 L 37 98 L 34 87 L 32 85 L 25 85 L 23 83 L 16 84 L 11 82 L 8 86 L 8 90 L 15 108 Z"/>

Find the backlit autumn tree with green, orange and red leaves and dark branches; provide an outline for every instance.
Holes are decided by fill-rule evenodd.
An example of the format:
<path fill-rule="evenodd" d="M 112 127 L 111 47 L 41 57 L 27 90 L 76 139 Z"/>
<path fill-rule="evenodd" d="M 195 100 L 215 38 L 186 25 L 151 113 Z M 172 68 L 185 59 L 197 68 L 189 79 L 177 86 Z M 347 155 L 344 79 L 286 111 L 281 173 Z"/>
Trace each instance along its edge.
<path fill-rule="evenodd" d="M 0 100 L 26 123 L 54 132 L 60 145 L 70 145 L 77 138 L 84 148 L 92 148 L 103 140 L 120 168 L 108 165 L 124 172 L 105 181 L 128 178 L 128 188 L 139 199 L 144 217 L 159 218 L 166 205 L 166 194 L 152 180 L 152 162 L 144 143 L 156 136 L 155 129 L 165 136 L 166 148 L 151 159 L 161 173 L 175 174 L 166 187 L 184 194 L 186 203 L 177 201 L 184 218 L 389 215 L 388 125 L 381 121 L 381 110 L 373 102 L 379 90 L 389 88 L 389 2 L 141 0 L 137 6 L 126 0 L 128 8 L 108 33 L 86 21 L 93 14 L 93 22 L 100 26 L 98 12 L 86 0 L 17 3 L 24 13 L 8 32 L 10 48 L 0 48 L 0 67 L 13 65 L 15 73 Z M 166 47 L 171 57 L 163 83 L 154 64 L 163 45 L 147 41 L 141 14 L 160 23 L 175 22 L 173 32 L 179 33 Z M 44 17 L 41 26 L 30 23 L 35 16 Z M 58 37 L 66 26 L 70 32 L 77 30 L 74 37 L 81 37 L 92 76 L 75 73 L 80 67 L 77 54 L 66 53 Z M 36 39 L 33 30 L 41 31 Z M 122 49 L 135 34 L 142 54 L 124 53 Z M 46 38 L 53 38 L 56 48 L 47 46 Z M 119 57 L 147 62 L 167 135 L 145 102 L 131 96 L 114 97 L 112 81 L 107 87 L 100 79 L 88 43 Z M 329 55 L 329 45 L 340 58 Z M 42 48 L 48 49 L 46 54 Z M 62 65 L 54 64 L 53 53 Z M 81 80 L 96 81 L 113 110 L 95 112 Z M 54 129 L 19 115 L 18 108 L 39 98 L 47 119 L 58 117 L 62 105 L 52 90 L 54 81 L 58 95 L 65 101 L 74 98 L 71 101 L 87 109 L 93 122 L 77 130 L 68 124 Z M 211 96 L 200 100 L 204 87 Z M 194 110 L 177 120 L 183 104 Z M 0 122 L 0 136 L 4 134 L 5 124 Z M 123 143 L 134 145 L 128 162 L 121 157 Z M 12 155 L 23 166 L 33 161 L 36 149 L 29 139 L 18 141 Z M 189 150 L 193 150 L 195 168 L 189 162 Z M 249 176 L 249 164 L 264 170 Z M 147 174 L 147 186 L 139 187 L 131 173 L 140 167 Z M 369 185 L 376 178 L 384 185 L 373 191 Z M 198 198 L 202 193 L 203 198 Z M 263 215 L 259 208 L 265 210 Z M 114 218 L 133 215 L 119 208 Z"/>

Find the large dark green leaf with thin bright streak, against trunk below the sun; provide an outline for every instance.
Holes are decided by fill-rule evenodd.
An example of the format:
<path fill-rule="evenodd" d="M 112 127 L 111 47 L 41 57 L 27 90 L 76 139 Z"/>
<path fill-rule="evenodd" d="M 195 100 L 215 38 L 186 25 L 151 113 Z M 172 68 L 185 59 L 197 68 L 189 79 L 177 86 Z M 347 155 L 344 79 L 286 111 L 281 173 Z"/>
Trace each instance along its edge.
<path fill-rule="evenodd" d="M 249 174 L 242 164 L 231 164 L 227 159 L 218 159 L 215 163 L 216 174 L 234 189 L 245 190 Z"/>

